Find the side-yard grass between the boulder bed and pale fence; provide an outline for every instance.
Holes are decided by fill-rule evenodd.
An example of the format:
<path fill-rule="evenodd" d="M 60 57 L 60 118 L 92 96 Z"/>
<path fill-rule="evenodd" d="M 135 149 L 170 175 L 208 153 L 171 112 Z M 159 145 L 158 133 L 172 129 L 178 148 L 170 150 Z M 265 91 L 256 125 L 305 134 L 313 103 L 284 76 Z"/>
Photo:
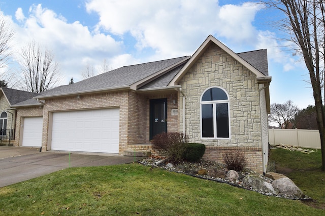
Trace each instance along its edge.
<path fill-rule="evenodd" d="M 269 161 L 275 162 L 276 172 L 282 173 L 316 202 L 306 203 L 325 210 L 325 172 L 321 170 L 321 152 L 302 153 L 271 149 Z M 325 215 L 325 212 L 324 212 Z"/>

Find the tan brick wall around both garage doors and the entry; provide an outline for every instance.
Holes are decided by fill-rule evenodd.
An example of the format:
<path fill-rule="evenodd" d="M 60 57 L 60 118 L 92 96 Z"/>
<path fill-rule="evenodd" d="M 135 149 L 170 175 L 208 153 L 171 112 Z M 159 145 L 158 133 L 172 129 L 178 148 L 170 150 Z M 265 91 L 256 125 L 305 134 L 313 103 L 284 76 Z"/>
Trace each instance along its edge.
<path fill-rule="evenodd" d="M 149 140 L 149 105 L 150 99 L 167 98 L 168 130 L 178 130 L 177 116 L 171 116 L 171 110 L 177 109 L 177 94 L 146 96 L 133 91 L 81 95 L 79 98 L 65 97 L 45 100 L 44 107 L 19 108 L 17 125 L 24 117 L 43 116 L 42 150 L 51 149 L 51 125 L 53 112 L 77 111 L 90 109 L 119 108 L 119 154 L 133 150 L 134 144 L 148 144 Z M 21 145 L 20 126 L 16 129 L 14 145 Z"/>

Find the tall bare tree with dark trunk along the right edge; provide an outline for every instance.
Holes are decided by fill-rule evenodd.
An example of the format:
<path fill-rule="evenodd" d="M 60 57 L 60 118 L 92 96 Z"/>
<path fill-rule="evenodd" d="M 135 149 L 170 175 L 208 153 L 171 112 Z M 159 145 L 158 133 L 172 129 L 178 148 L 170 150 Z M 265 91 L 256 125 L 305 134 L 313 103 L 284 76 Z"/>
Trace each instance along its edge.
<path fill-rule="evenodd" d="M 285 15 L 285 19 L 279 22 L 279 26 L 283 32 L 288 33 L 286 39 L 295 44 L 296 54 L 303 57 L 308 69 L 320 135 L 322 170 L 325 170 L 325 110 L 323 106 L 325 1 L 265 0 L 263 2 Z"/>

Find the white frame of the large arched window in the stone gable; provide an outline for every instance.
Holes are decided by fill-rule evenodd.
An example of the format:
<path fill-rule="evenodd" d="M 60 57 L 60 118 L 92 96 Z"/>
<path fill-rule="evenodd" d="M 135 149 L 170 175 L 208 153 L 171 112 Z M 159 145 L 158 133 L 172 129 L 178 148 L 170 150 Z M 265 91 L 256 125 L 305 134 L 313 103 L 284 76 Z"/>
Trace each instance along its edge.
<path fill-rule="evenodd" d="M 202 97 L 203 95 L 210 89 L 221 89 L 227 96 L 227 100 L 215 100 L 215 101 L 202 101 Z M 227 103 L 228 104 L 228 131 L 229 131 L 229 137 L 217 137 L 217 116 L 216 116 L 216 104 L 224 104 Z M 202 105 L 203 104 L 212 104 L 213 106 L 213 137 L 203 137 L 202 135 Z M 227 91 L 225 91 L 223 88 L 221 87 L 209 87 L 208 89 L 206 89 L 201 97 L 200 97 L 200 130 L 201 130 L 201 139 L 203 140 L 230 140 L 231 139 L 231 130 L 230 130 L 231 126 L 230 126 L 230 100 L 229 100 L 229 94 Z"/>

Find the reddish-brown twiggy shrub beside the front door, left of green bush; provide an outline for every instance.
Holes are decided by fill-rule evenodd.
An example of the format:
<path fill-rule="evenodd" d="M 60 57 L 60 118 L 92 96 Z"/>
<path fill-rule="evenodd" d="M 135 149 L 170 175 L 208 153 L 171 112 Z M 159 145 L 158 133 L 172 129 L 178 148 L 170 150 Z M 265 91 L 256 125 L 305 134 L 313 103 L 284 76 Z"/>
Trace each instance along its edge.
<path fill-rule="evenodd" d="M 188 138 L 183 133 L 162 133 L 152 139 L 152 148 L 175 163 L 183 160 L 187 145 Z"/>

